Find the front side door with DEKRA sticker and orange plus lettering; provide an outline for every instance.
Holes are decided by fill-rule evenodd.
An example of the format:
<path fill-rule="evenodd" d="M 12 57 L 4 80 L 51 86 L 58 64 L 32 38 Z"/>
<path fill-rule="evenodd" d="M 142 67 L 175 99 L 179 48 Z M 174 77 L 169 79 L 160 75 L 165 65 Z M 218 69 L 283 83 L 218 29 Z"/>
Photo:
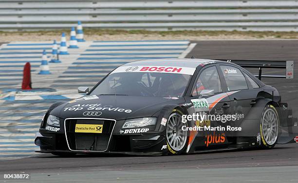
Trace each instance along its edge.
<path fill-rule="evenodd" d="M 195 143 L 195 146 L 211 148 L 227 143 L 225 134 L 221 130 L 211 130 L 212 127 L 224 126 L 222 121 L 212 118 L 212 115 L 230 113 L 230 100 L 223 90 L 221 80 L 215 65 L 203 67 L 192 87 L 190 94 L 190 100 L 193 103 L 192 113 L 200 116 L 201 119 L 196 120 L 195 124 L 203 128 L 202 131 L 197 132 L 196 136 L 200 140 Z"/>

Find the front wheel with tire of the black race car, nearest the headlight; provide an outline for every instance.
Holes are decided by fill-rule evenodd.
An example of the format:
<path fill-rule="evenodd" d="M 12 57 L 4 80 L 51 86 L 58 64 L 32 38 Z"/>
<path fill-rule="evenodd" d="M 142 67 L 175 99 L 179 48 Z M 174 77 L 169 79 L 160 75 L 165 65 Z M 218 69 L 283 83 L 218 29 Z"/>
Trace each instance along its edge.
<path fill-rule="evenodd" d="M 171 155 L 182 154 L 187 146 L 188 131 L 183 131 L 182 126 L 187 127 L 187 123 L 182 122 L 183 113 L 174 109 L 168 117 L 166 138 L 168 152 Z"/>

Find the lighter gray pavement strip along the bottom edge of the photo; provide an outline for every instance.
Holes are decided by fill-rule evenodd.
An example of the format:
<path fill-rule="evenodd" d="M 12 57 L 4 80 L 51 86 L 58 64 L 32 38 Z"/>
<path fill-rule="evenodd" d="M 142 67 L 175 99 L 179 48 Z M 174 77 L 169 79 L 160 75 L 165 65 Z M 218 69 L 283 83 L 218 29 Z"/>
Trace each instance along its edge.
<path fill-rule="evenodd" d="M 297 183 L 298 166 L 81 171 L 32 174 L 23 182 L 52 183 Z M 154 176 L 152 176 L 154 175 Z M 17 181 L 15 181 L 17 182 Z M 9 181 L 11 183 L 11 181 Z"/>

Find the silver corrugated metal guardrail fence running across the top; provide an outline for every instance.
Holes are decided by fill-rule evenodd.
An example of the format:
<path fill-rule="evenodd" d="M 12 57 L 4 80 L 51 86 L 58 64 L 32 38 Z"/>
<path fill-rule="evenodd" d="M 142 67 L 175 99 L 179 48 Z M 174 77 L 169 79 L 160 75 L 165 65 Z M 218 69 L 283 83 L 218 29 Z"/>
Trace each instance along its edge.
<path fill-rule="evenodd" d="M 0 0 L 0 30 L 298 31 L 298 0 Z"/>

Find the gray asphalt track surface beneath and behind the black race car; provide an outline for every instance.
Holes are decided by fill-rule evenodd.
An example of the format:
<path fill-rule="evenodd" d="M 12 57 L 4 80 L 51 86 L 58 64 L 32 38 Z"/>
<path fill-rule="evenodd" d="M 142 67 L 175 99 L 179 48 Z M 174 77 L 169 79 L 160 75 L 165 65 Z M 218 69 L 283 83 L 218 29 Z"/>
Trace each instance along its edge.
<path fill-rule="evenodd" d="M 187 55 L 212 59 L 298 60 L 298 40 L 199 41 Z M 294 70 L 298 70 L 295 63 Z M 264 73 L 278 73 L 266 71 Z M 279 89 L 282 100 L 297 116 L 298 77 L 264 79 Z M 180 156 L 77 155 L 60 158 L 50 154 L 0 162 L 4 173 L 31 173 L 28 182 L 204 182 L 297 183 L 298 144 L 277 145 L 272 150 L 232 150 Z M 7 181 L 13 182 L 13 181 Z M 24 181 L 23 181 L 24 182 Z"/>

